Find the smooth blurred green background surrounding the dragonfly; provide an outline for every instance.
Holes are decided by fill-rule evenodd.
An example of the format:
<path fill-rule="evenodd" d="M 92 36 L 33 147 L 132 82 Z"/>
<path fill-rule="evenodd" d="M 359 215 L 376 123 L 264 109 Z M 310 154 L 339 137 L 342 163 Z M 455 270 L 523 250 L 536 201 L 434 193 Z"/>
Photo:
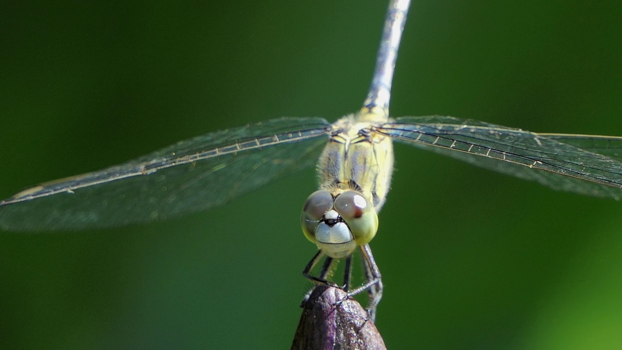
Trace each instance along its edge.
<path fill-rule="evenodd" d="M 0 5 L 0 197 L 175 141 L 358 110 L 384 1 Z M 622 135 L 619 1 L 415 1 L 391 114 Z M 622 348 L 622 204 L 396 146 L 391 349 Z M 119 229 L 0 235 L 2 349 L 284 349 L 313 171 Z"/>

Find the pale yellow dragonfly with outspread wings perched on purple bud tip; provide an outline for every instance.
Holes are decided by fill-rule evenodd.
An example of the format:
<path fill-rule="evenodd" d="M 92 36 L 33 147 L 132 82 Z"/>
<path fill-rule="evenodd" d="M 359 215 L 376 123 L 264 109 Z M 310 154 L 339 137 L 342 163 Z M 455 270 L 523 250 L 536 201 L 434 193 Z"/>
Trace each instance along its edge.
<path fill-rule="evenodd" d="M 221 206 L 284 176 L 316 166 L 319 189 L 302 205 L 302 231 L 318 252 L 305 277 L 327 283 L 345 259 L 340 288 L 369 293 L 374 319 L 383 295 L 369 242 L 391 184 L 393 142 L 457 158 L 560 191 L 622 197 L 622 138 L 532 133 L 452 116 L 389 117 L 397 50 L 409 1 L 387 11 L 368 95 L 357 113 L 277 118 L 180 141 L 127 163 L 45 182 L 0 201 L 0 228 L 80 230 L 165 220 Z M 350 288 L 351 257 L 366 281 Z M 325 258 L 317 275 L 311 271 Z"/>

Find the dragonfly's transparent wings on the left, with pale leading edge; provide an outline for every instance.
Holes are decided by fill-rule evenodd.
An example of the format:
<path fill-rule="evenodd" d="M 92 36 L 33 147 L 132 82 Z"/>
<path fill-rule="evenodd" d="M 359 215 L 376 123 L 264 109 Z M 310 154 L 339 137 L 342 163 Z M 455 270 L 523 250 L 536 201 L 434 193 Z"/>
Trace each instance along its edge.
<path fill-rule="evenodd" d="M 322 118 L 279 118 L 181 141 L 0 201 L 0 227 L 114 227 L 219 206 L 312 166 L 329 128 Z"/>

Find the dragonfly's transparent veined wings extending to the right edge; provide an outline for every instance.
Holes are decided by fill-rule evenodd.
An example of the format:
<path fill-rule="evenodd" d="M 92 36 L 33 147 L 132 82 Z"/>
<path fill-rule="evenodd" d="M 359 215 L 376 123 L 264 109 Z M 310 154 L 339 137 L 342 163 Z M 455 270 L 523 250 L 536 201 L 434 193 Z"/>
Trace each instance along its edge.
<path fill-rule="evenodd" d="M 397 118 L 376 131 L 553 189 L 622 197 L 622 138 L 537 134 L 450 116 Z"/>

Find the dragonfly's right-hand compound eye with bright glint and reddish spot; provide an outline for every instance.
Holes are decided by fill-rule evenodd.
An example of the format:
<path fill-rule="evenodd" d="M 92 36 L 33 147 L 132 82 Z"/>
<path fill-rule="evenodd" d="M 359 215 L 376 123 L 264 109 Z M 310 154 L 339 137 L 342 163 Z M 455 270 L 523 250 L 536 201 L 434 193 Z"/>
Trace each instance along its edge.
<path fill-rule="evenodd" d="M 345 220 L 356 240 L 356 244 L 369 243 L 378 231 L 378 215 L 362 194 L 346 191 L 335 198 L 335 210 Z"/>

